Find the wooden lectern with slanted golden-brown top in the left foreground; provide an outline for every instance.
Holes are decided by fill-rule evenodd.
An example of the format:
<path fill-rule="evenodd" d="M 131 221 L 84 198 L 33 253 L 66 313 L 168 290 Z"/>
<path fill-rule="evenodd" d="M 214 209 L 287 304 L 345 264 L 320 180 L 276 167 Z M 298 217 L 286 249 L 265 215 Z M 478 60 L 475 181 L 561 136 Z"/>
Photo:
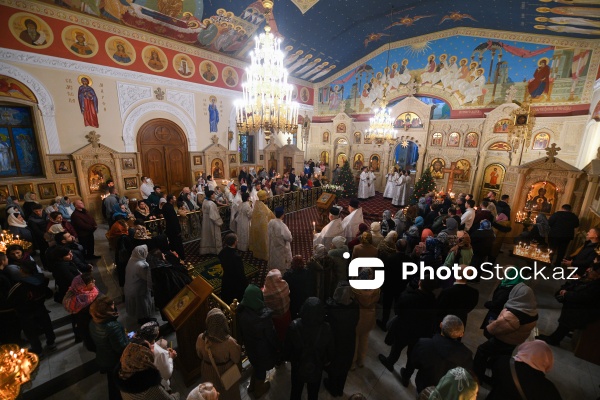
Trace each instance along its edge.
<path fill-rule="evenodd" d="M 163 308 L 177 335 L 177 363 L 183 380 L 189 385 L 200 376 L 202 362 L 196 354 L 198 335 L 206 329 L 208 297 L 212 286 L 202 277 L 197 277 L 177 293 Z"/>

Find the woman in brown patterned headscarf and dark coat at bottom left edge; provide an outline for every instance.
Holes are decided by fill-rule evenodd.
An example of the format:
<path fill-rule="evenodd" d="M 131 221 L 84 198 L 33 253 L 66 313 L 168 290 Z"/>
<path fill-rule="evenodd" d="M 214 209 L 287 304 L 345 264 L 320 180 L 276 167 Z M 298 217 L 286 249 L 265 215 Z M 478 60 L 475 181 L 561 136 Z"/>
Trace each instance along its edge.
<path fill-rule="evenodd" d="M 179 400 L 179 394 L 169 394 L 160 384 L 160 372 L 154 365 L 154 353 L 146 341 L 129 343 L 115 371 L 116 383 L 123 400 Z"/>

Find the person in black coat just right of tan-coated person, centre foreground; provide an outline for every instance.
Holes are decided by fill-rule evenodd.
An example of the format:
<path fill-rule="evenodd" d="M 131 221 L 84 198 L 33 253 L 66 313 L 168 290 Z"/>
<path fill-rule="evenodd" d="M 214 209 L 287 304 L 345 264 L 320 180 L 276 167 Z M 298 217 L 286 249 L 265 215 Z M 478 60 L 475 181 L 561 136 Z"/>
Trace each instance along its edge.
<path fill-rule="evenodd" d="M 433 335 L 435 318 L 435 296 L 432 293 L 434 283 L 420 280 L 418 287 L 409 284 L 396 304 L 396 318 L 391 322 L 385 343 L 391 345 L 390 354 L 386 357 L 379 354 L 379 361 L 388 369 L 394 370 L 394 364 L 400 358 L 402 350 L 408 346 L 407 368 L 414 345 L 420 338 Z M 413 370 L 402 368 L 403 375 L 412 375 Z"/>

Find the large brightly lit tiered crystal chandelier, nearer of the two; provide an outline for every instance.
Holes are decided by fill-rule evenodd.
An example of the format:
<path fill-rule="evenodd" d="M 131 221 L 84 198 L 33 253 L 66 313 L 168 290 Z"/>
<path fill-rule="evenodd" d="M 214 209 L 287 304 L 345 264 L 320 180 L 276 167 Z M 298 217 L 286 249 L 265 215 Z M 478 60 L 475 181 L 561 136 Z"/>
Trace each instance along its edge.
<path fill-rule="evenodd" d="M 265 19 L 269 20 L 273 2 L 263 0 L 262 5 Z M 281 39 L 266 26 L 265 33 L 255 41 L 246 82 L 242 84 L 243 98 L 235 104 L 236 125 L 238 132 L 245 134 L 263 131 L 268 144 L 271 133 L 297 133 L 298 103 L 292 101 L 293 86 L 288 83 L 288 72 L 283 66 Z"/>

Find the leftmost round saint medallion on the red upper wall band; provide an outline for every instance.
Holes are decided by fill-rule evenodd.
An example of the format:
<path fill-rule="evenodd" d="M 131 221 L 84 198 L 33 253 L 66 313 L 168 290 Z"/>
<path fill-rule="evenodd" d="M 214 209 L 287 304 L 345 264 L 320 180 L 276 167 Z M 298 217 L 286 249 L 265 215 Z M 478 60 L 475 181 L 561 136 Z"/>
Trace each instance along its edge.
<path fill-rule="evenodd" d="M 13 14 L 8 20 L 8 29 L 19 42 L 34 49 L 45 49 L 54 41 L 54 34 L 46 21 L 33 14 Z"/>

